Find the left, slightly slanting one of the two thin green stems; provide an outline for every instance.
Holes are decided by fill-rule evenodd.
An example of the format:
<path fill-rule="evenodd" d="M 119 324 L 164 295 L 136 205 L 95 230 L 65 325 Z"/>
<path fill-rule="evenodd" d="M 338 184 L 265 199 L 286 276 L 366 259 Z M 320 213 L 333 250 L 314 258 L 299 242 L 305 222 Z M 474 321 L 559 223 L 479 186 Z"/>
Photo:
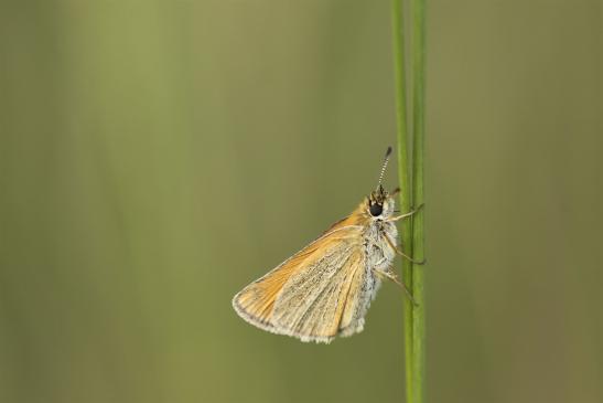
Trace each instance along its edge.
<path fill-rule="evenodd" d="M 396 82 L 396 120 L 398 131 L 398 178 L 400 181 L 400 211 L 410 211 L 410 174 L 408 162 L 408 121 L 406 104 L 406 72 L 405 72 L 405 30 L 403 30 L 403 0 L 391 0 L 391 32 L 394 36 L 394 67 Z M 401 240 L 405 253 L 412 256 L 411 220 L 401 225 Z M 412 265 L 402 259 L 402 282 L 412 288 Z M 403 305 L 405 331 L 405 373 L 407 402 L 412 402 L 412 303 L 405 299 Z"/>

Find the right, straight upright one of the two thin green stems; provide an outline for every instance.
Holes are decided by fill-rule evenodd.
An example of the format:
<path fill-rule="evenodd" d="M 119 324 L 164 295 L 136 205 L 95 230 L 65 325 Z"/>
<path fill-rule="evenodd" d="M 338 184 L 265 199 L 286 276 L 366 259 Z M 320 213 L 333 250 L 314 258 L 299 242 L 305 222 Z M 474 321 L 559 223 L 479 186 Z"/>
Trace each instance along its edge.
<path fill-rule="evenodd" d="M 412 203 L 423 203 L 423 145 L 426 95 L 426 0 L 412 1 Z M 424 258 L 423 214 L 412 218 L 412 257 Z M 424 267 L 412 266 L 412 296 L 417 306 L 412 312 L 412 403 L 422 403 L 426 374 L 426 298 Z"/>

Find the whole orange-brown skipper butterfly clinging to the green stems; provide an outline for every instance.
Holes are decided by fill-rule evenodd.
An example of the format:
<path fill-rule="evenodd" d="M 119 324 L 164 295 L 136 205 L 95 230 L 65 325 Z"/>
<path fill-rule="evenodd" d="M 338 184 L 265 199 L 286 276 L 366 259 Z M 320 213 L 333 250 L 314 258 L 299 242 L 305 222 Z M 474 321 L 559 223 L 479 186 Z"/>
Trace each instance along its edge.
<path fill-rule="evenodd" d="M 301 341 L 331 342 L 364 329 L 365 316 L 381 279 L 402 286 L 391 272 L 396 254 L 394 197 L 381 180 L 391 153 L 388 148 L 377 189 L 345 219 L 233 298 L 235 311 L 249 324 Z M 409 295 L 410 296 L 410 295 Z"/>

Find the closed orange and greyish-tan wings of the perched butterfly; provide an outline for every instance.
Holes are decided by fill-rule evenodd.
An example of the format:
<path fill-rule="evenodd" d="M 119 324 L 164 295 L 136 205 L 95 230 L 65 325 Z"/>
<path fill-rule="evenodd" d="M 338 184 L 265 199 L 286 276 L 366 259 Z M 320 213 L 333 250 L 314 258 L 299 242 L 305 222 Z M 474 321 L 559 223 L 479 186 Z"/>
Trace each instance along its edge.
<path fill-rule="evenodd" d="M 237 314 L 261 329 L 302 341 L 329 342 L 340 332 L 360 331 L 370 301 L 366 283 L 375 278 L 366 268 L 364 226 L 351 219 L 237 294 Z"/>

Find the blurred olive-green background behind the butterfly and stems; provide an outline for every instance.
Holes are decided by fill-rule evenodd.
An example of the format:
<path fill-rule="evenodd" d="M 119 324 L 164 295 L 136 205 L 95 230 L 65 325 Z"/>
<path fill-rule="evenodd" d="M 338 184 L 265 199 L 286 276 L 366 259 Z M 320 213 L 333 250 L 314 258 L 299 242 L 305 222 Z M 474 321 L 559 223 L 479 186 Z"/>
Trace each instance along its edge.
<path fill-rule="evenodd" d="M 375 187 L 389 1 L 0 4 L 1 402 L 403 401 L 395 286 L 230 307 Z M 601 402 L 602 2 L 428 11 L 429 401 Z"/>

